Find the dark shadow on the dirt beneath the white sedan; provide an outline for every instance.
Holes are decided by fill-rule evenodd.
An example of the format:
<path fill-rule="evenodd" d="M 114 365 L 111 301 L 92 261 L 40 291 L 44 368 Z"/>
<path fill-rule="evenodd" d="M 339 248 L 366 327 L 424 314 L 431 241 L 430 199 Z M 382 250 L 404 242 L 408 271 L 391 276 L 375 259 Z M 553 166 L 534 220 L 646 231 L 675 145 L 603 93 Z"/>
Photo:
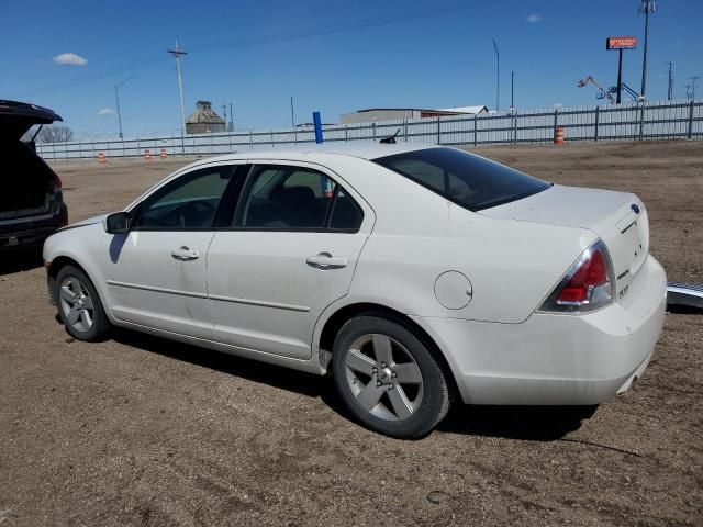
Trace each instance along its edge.
<path fill-rule="evenodd" d="M 114 328 L 113 340 L 164 357 L 236 375 L 248 381 L 320 397 L 345 419 L 353 421 L 331 375 L 291 370 L 221 351 L 199 348 L 130 329 Z M 596 406 L 471 406 L 456 404 L 437 430 L 448 434 L 554 441 L 577 430 Z"/>

